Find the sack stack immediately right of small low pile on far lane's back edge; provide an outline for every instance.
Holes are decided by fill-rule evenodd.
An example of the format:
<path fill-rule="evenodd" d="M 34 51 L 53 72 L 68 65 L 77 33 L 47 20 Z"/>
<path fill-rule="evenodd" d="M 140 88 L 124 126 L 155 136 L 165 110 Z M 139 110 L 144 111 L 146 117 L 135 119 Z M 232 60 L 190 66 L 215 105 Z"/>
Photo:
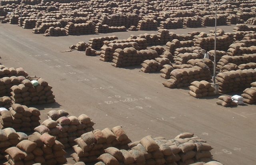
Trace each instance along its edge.
<path fill-rule="evenodd" d="M 64 28 L 66 29 L 67 35 L 95 33 L 95 23 L 89 20 L 82 24 L 74 24 L 73 22 L 68 22 Z"/>

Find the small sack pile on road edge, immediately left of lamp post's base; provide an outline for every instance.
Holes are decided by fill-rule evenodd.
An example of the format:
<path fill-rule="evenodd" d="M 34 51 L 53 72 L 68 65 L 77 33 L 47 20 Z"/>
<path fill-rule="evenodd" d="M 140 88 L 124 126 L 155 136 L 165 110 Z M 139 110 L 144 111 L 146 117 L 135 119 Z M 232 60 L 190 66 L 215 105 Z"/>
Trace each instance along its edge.
<path fill-rule="evenodd" d="M 209 82 L 202 80 L 200 82 L 194 81 L 190 84 L 191 84 L 189 86 L 190 91 L 188 93 L 193 97 L 200 98 L 200 97 L 216 95 L 216 93 L 214 93 L 215 91 L 214 87 L 212 87 L 212 85 Z"/>

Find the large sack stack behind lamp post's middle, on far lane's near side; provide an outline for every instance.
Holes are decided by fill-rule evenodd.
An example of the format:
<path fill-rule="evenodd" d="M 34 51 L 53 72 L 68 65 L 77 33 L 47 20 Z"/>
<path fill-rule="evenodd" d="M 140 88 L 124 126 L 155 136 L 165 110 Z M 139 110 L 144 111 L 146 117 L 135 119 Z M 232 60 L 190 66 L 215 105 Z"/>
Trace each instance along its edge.
<path fill-rule="evenodd" d="M 202 33 L 194 36 L 194 46 L 200 46 L 204 50 L 214 50 L 215 30 L 210 30 L 209 34 Z M 222 29 L 216 31 L 216 48 L 218 50 L 228 50 L 228 47 L 233 42 L 233 34 L 225 33 Z"/>

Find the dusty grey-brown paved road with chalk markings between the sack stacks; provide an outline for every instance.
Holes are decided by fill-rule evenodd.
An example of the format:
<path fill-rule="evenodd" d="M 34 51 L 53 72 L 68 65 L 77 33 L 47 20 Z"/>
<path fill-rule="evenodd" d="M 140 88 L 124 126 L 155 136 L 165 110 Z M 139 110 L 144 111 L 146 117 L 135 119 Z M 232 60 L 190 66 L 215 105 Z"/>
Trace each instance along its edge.
<path fill-rule="evenodd" d="M 233 27 L 218 28 L 232 32 Z M 170 31 L 187 34 L 212 29 Z M 48 111 L 66 109 L 70 115 L 88 115 L 96 123 L 94 129 L 122 125 L 132 141 L 146 135 L 173 139 L 191 132 L 212 145 L 213 158 L 224 165 L 255 165 L 255 105 L 225 108 L 216 104 L 218 95 L 196 99 L 188 94 L 188 88 L 166 88 L 162 82 L 167 80 L 160 73 L 145 74 L 140 66 L 115 68 L 84 52 L 60 52 L 91 37 L 126 39 L 144 33 L 44 37 L 17 25 L 0 24 L 0 62 L 9 68 L 22 67 L 29 76 L 44 78 L 53 87 L 56 103 L 34 106 L 41 110 L 41 122 Z M 74 163 L 70 157 L 68 161 Z"/>

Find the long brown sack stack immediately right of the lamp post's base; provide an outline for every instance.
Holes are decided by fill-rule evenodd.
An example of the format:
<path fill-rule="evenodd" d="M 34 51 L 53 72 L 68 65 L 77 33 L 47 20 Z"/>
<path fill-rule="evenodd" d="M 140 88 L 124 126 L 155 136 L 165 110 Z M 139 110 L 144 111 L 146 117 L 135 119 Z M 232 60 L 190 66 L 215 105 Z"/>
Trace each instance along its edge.
<path fill-rule="evenodd" d="M 256 70 L 232 70 L 221 72 L 216 75 L 216 83 L 219 84 L 220 93 L 233 91 L 243 91 L 251 87 L 251 83 L 256 81 Z"/>

